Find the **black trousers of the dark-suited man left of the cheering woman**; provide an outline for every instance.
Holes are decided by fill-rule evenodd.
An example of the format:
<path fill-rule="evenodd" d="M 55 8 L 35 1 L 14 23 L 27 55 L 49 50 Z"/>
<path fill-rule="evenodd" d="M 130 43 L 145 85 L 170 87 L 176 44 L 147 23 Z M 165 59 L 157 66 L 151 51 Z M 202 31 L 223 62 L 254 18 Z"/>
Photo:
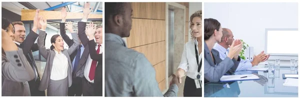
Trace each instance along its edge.
<path fill-rule="evenodd" d="M 38 91 L 40 79 L 28 81 L 31 96 L 45 96 L 45 91 Z"/>

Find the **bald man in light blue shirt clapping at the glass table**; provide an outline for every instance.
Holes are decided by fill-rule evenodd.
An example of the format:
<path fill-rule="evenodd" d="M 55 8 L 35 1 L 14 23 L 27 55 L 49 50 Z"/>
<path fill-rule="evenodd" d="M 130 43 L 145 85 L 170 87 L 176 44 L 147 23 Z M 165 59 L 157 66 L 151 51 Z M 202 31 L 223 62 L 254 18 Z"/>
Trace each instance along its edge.
<path fill-rule="evenodd" d="M 217 50 L 219 52 L 219 56 L 220 58 L 223 60 L 224 58 L 227 57 L 227 54 L 229 52 L 229 45 L 232 44 L 234 38 L 233 38 L 233 34 L 232 31 L 228 28 L 222 28 L 223 31 L 223 36 L 221 38 L 221 42 L 218 42 L 214 45 L 213 49 Z M 263 51 L 261 51 L 260 54 L 258 54 L 257 56 L 254 55 L 252 60 L 243 60 L 240 59 L 240 62 L 238 64 L 237 69 L 235 70 L 235 72 L 237 71 L 243 71 L 243 70 L 247 70 L 249 68 L 252 68 L 253 66 L 258 65 L 260 62 L 264 62 L 268 59 L 269 55 L 266 55 L 263 53 Z"/>

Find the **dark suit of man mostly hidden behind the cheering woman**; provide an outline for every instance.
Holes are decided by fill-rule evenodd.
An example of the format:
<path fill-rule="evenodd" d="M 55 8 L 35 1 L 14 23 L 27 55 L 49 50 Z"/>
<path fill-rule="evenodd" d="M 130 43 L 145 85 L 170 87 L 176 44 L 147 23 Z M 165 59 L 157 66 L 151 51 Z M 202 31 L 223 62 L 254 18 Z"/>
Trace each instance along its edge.
<path fill-rule="evenodd" d="M 74 43 L 72 39 L 70 39 L 65 34 L 65 23 L 59 23 L 60 28 L 60 35 L 62 39 L 65 41 L 68 47 L 71 47 Z M 74 58 L 76 57 L 78 49 L 76 49 L 72 54 L 70 54 L 70 60 L 73 62 Z M 73 70 L 75 71 L 75 70 Z M 75 73 L 75 72 L 73 72 Z M 74 75 L 74 74 L 72 74 Z M 81 96 L 82 95 L 82 78 L 81 77 L 72 77 L 72 85 L 68 88 L 67 96 Z"/>

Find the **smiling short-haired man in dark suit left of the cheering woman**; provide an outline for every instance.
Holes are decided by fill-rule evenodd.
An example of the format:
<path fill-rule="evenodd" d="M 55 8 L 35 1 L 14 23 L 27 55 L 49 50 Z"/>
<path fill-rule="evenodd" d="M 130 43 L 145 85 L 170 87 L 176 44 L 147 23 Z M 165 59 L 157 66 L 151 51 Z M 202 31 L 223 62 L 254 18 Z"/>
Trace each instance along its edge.
<path fill-rule="evenodd" d="M 33 71 L 34 71 L 34 79 L 31 81 L 28 81 L 29 87 L 30 87 L 30 93 L 31 96 L 45 96 L 44 91 L 38 91 L 37 88 L 39 87 L 40 83 L 40 75 L 38 72 L 38 69 L 35 64 L 35 60 L 33 58 L 32 52 L 38 50 L 38 46 L 34 41 L 38 37 L 38 34 L 36 34 L 36 31 L 39 26 L 39 21 L 37 19 L 38 17 L 38 9 L 36 10 L 34 20 L 33 20 L 33 28 L 29 31 L 29 34 L 26 36 L 25 39 L 25 27 L 22 22 L 12 22 L 12 24 L 15 27 L 15 38 L 13 42 L 16 44 L 17 47 L 21 48 L 23 50 L 23 54 L 26 57 L 27 61 L 31 65 Z"/>

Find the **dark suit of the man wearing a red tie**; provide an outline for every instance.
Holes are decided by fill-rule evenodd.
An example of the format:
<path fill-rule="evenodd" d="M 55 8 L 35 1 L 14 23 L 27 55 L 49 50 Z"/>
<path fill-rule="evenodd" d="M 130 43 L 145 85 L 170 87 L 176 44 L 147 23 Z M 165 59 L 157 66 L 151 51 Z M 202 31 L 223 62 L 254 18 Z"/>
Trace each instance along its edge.
<path fill-rule="evenodd" d="M 88 41 L 90 58 L 92 60 L 98 61 L 95 78 L 94 78 L 94 93 L 95 96 L 102 96 L 102 54 L 97 54 L 95 50 L 94 40 Z"/>

